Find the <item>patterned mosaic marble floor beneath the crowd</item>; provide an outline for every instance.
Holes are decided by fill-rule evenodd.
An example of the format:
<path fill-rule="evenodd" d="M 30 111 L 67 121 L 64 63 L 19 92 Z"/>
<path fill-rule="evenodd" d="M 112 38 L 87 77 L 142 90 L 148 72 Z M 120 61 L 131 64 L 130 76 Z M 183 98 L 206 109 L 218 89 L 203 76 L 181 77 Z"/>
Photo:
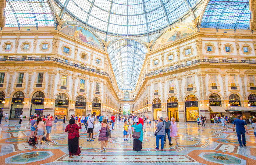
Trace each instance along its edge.
<path fill-rule="evenodd" d="M 143 138 L 143 149 L 133 151 L 132 140 L 123 141 L 123 125 L 115 124 L 112 138 L 109 138 L 106 151 L 101 153 L 98 135 L 94 142 L 87 142 L 84 126 L 80 131 L 80 157 L 68 155 L 67 134 L 65 125 L 53 125 L 52 142 L 29 146 L 27 136 L 30 125 L 26 121 L 18 124 L 18 120 L 2 122 L 0 127 L 0 164 L 182 164 L 182 165 L 252 165 L 256 162 L 256 143 L 253 130 L 249 125 L 246 135 L 247 147 L 240 148 L 236 133 L 232 132 L 232 124 L 225 130 L 222 126 L 207 123 L 205 127 L 197 127 L 197 123 L 178 123 L 178 142 L 169 146 L 168 138 L 164 151 L 154 148 L 154 128 L 146 128 Z M 153 125 L 152 125 L 153 126 Z"/>

